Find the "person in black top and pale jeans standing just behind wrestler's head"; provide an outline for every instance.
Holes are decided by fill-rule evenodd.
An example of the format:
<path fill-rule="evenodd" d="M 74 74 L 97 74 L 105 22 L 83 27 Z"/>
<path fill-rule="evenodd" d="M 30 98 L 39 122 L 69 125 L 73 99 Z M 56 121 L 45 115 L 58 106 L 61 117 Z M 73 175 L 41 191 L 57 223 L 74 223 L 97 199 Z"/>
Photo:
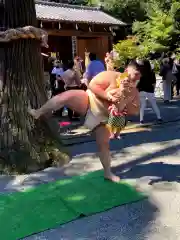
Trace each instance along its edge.
<path fill-rule="evenodd" d="M 151 68 L 151 64 L 148 60 L 139 61 L 138 64 L 142 65 L 142 76 L 137 84 L 137 88 L 140 94 L 140 123 L 144 122 L 144 111 L 146 108 L 146 100 L 148 100 L 152 106 L 152 109 L 156 113 L 158 122 L 161 122 L 160 110 L 156 103 L 154 95 L 156 85 L 156 75 Z"/>

